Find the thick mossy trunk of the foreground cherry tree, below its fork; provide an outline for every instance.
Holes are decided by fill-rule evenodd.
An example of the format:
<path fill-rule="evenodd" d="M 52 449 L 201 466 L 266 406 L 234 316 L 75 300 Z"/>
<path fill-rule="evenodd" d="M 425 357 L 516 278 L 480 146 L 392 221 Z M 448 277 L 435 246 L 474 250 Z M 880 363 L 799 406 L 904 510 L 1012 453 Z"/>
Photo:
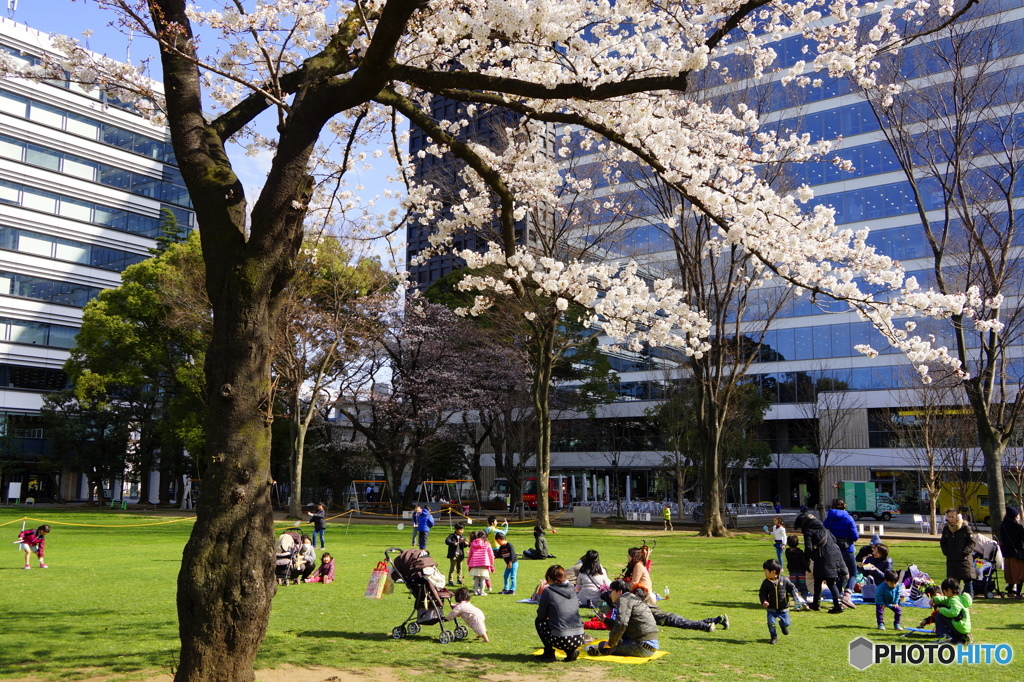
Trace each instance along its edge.
<path fill-rule="evenodd" d="M 178 574 L 177 682 L 253 680 L 276 590 L 267 406 L 271 301 L 253 290 L 211 296 L 210 464 Z"/>

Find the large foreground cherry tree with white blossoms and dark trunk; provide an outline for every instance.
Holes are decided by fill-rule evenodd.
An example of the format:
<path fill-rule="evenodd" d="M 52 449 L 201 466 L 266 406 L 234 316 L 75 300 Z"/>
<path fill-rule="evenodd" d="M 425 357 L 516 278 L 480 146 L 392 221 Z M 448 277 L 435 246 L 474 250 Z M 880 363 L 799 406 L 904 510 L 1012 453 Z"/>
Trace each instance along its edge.
<path fill-rule="evenodd" d="M 681 96 L 695 74 L 725 69 L 729 53 L 752 55 L 755 76 L 774 69 L 770 42 L 787 34 L 804 36 L 809 48 L 805 61 L 780 75 L 784 85 L 815 87 L 814 75 L 827 71 L 891 93 L 877 78 L 876 56 L 898 49 L 922 19 L 952 20 L 975 0 L 96 2 L 135 40 L 156 41 L 166 97 L 142 70 L 69 39 L 55 39 L 66 56 L 39 63 L 0 54 L 0 71 L 67 75 L 166 122 L 196 210 L 214 314 L 206 354 L 210 466 L 178 579 L 178 680 L 254 677 L 275 589 L 268 559 L 272 335 L 307 214 L 322 205 L 358 210 L 358 187 L 341 186 L 362 163 L 352 153 L 357 142 L 378 133 L 392 139 L 404 169 L 404 117 L 433 141 L 423 154 L 450 152 L 466 163 L 464 203 L 437 221 L 436 238 L 497 217 L 501 240 L 480 263 L 503 268 L 492 291 L 541 290 L 558 307 L 571 300 L 593 310 L 593 325 L 633 345 L 673 344 L 694 355 L 707 349 L 707 318 L 671 282 L 649 283 L 631 264 L 561 262 L 518 246 L 515 223 L 525 207 L 558 210 L 557 164 L 535 154 L 537 138 L 528 135 L 513 135 L 516 143 L 500 154 L 461 141 L 454 131 L 472 112 L 435 118 L 424 105 L 429 96 L 572 125 L 581 144 L 648 166 L 708 215 L 730 248 L 755 253 L 771 276 L 847 301 L 921 368 L 956 360 L 894 318 L 998 304 L 977 290 L 922 291 L 866 245 L 866 232 L 837 230 L 830 209 L 804 211 L 809 188 L 783 196 L 768 186 L 758 166 L 779 154 L 817 154 L 806 139 L 759 130 L 750 108 Z M 263 120 L 272 132 L 261 132 Z M 234 141 L 252 153 L 272 151 L 257 197 L 246 196 L 236 173 Z M 563 137 L 557 153 L 573 143 Z M 430 217 L 430 186 L 412 184 L 402 201 Z M 880 299 L 860 282 L 888 295 Z M 486 304 L 483 297 L 474 307 Z"/>

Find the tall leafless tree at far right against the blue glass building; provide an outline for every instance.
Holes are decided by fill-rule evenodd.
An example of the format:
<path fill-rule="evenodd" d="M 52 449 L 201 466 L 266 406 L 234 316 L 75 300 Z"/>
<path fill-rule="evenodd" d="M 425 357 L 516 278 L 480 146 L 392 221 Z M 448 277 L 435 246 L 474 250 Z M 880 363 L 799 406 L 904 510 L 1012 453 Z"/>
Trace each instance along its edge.
<path fill-rule="evenodd" d="M 1008 349 L 1021 342 L 1022 239 L 1016 188 L 1024 176 L 1024 85 L 1019 41 L 984 6 L 888 57 L 907 82 L 892 105 L 868 97 L 916 204 L 929 258 L 921 279 L 946 293 L 978 287 L 982 325 L 952 315 L 931 329 L 970 373 L 964 381 L 984 456 L 991 509 L 1005 506 L 1002 459 L 1020 421 L 1019 372 Z M 918 255 L 918 254 L 915 254 Z M 992 323 L 998 323 L 992 326 Z"/>

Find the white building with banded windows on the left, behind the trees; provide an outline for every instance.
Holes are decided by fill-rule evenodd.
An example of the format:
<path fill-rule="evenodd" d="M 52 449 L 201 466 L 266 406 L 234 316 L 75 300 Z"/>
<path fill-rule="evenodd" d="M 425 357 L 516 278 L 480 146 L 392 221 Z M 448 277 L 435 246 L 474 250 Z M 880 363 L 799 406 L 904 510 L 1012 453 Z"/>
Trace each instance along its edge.
<path fill-rule="evenodd" d="M 0 18 L 0 50 L 32 61 L 45 34 Z M 3 494 L 85 497 L 39 418 L 63 388 L 83 306 L 150 256 L 161 211 L 194 226 L 168 132 L 68 82 L 0 81 L 0 435 Z"/>

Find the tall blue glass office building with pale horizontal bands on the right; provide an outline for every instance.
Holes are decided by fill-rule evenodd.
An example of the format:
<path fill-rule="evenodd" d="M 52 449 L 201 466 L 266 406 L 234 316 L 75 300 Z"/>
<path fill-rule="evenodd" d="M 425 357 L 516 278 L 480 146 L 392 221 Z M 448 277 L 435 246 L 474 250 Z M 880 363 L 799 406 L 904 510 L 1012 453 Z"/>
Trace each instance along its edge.
<path fill-rule="evenodd" d="M 880 119 L 850 81 L 829 80 L 827 75 L 818 74 L 815 76 L 823 79 L 819 88 L 783 88 L 777 82 L 781 77 L 778 74 L 774 82 L 769 79 L 752 85 L 751 97 L 756 102 L 751 105 L 760 110 L 766 127 L 807 132 L 812 140 L 838 140 L 839 148 L 829 156 L 852 163 L 852 168 L 843 169 L 826 158 L 793 164 L 786 169 L 791 186 L 807 183 L 813 187 L 815 198 L 808 209 L 816 205 L 833 207 L 840 228 L 869 227 L 868 243 L 900 261 L 925 288 L 934 285 L 935 273 L 919 201 L 929 220 L 948 220 L 952 250 L 959 248 L 955 247 L 958 233 L 966 233 L 964 223 L 977 218 L 986 223 L 993 241 L 1006 238 L 1000 248 L 1011 263 L 1019 259 L 1024 236 L 1019 228 L 1012 232 L 1011 224 L 1024 216 L 1019 213 L 1018 199 L 1024 195 L 1022 6 L 1020 0 L 1001 0 L 977 7 L 955 36 L 930 36 L 904 50 L 898 61 L 887 65 L 916 93 L 908 95 L 914 102 L 911 114 L 918 117 L 915 132 L 911 133 L 916 145 L 912 160 L 919 166 L 915 186 L 907 180 L 882 128 L 883 124 L 891 126 L 896 116 L 885 114 Z M 793 37 L 773 44 L 779 55 L 776 66 L 785 69 L 799 59 L 809 59 L 802 50 L 806 42 L 802 37 Z M 742 72 L 738 61 L 729 57 L 722 61 L 731 67 L 733 76 Z M 963 88 L 950 85 L 956 80 L 949 73 L 953 65 L 967 74 Z M 987 72 L 991 79 L 987 88 L 979 87 L 983 84 L 981 72 Z M 716 96 L 716 89 L 730 90 L 733 98 L 741 96 L 737 95 L 741 91 L 737 84 L 725 88 L 721 83 L 711 83 L 711 96 Z M 969 121 L 957 121 L 958 128 L 923 124 L 938 115 L 951 118 L 954 113 L 965 112 L 964 118 Z M 928 153 L 922 151 L 928 144 L 954 146 L 957 134 L 968 136 L 963 141 L 963 154 L 972 158 L 965 164 L 965 178 L 976 193 L 959 199 L 950 197 L 948 188 L 943 187 L 941 173 L 925 168 Z M 610 188 L 599 184 L 597 190 L 616 194 L 634 206 L 644 203 L 643 193 L 635 184 Z M 961 213 L 952 211 L 952 217 L 946 216 L 947 206 L 956 202 Z M 628 249 L 624 251 L 631 256 L 640 255 L 651 262 L 671 260 L 671 254 L 665 252 L 671 245 L 656 216 L 636 220 L 627 233 Z M 951 278 L 957 276 L 957 267 L 967 267 L 952 258 L 947 262 Z M 1020 282 L 1016 279 L 1014 284 L 1019 286 Z M 1009 305 L 1016 305 L 1016 292 L 1008 293 Z M 946 321 L 920 318 L 915 333 L 926 338 L 934 335 L 937 345 L 955 347 L 952 328 Z M 785 306 L 761 340 L 762 349 L 748 377 L 772 401 L 760 434 L 771 447 L 772 465 L 738 473 L 729 493 L 730 501 L 749 504 L 770 501 L 775 496 L 787 506 L 805 502 L 805 496 L 816 501 L 817 482 L 811 470 L 820 439 L 816 444 L 808 434 L 821 428 L 826 414 L 841 413 L 842 428 L 836 430 L 827 445 L 831 453 L 825 500 L 831 498 L 828 489 L 835 481 L 873 480 L 881 489 L 903 501 L 906 508 L 916 506 L 921 501 L 920 463 L 907 449 L 899 446 L 900 433 L 894 426 L 918 416 L 915 401 L 920 397 L 914 391 L 921 382 L 906 357 L 889 348 L 870 324 L 859 319 L 847 305 L 808 296 Z M 968 334 L 969 354 L 977 350 L 978 342 L 977 335 Z M 858 353 L 855 347 L 859 344 L 872 345 L 881 355 L 868 358 Z M 1020 340 L 1011 343 L 1002 370 L 1012 394 L 1013 385 L 1024 376 Z M 611 356 L 623 382 L 621 396 L 618 402 L 603 409 L 601 416 L 607 425 L 604 431 L 626 434 L 618 440 L 627 446 L 595 435 L 601 429 L 581 429 L 566 422 L 556 427 L 554 447 L 561 452 L 553 455 L 553 468 L 578 476 L 577 482 L 582 483 L 583 472 L 595 466 L 608 472 L 608 452 L 629 451 L 629 455 L 617 457 L 617 465 L 630 463 L 636 478 L 629 485 L 632 497 L 656 499 L 667 488 L 667 481 L 656 471 L 663 466 L 665 443 L 645 411 L 664 397 L 667 377 L 673 376 L 673 371 L 666 368 L 671 359 L 657 352 L 638 356 L 616 351 Z M 970 460 L 966 468 L 973 469 L 972 475 L 980 480 L 980 456 L 974 453 L 966 457 Z M 591 477 L 597 484 L 598 497 L 607 497 L 603 475 Z M 620 483 L 620 487 L 624 484 Z"/>

